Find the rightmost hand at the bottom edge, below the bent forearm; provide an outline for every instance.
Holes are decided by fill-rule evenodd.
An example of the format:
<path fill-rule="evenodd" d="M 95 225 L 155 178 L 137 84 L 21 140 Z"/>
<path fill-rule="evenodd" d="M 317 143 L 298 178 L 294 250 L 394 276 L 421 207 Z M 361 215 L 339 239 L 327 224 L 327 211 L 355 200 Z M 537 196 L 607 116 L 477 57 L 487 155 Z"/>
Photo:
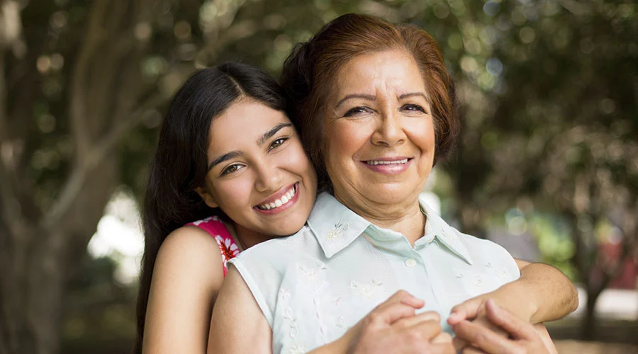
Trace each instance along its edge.
<path fill-rule="evenodd" d="M 509 338 L 491 329 L 462 320 L 452 327 L 458 338 L 469 343 L 463 353 L 551 353 L 532 324 L 529 324 L 505 309 L 492 299 L 485 302 L 486 317 L 508 333 Z"/>

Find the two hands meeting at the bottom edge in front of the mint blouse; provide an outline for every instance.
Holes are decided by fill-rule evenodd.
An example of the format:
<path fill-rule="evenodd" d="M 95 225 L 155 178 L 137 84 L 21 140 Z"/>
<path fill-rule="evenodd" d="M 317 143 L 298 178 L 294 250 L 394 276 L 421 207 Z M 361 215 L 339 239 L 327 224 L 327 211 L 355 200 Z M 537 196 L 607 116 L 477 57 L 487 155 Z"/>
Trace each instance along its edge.
<path fill-rule="evenodd" d="M 551 353 L 532 324 L 498 307 L 492 299 L 452 309 L 442 332 L 436 312 L 415 314 L 425 305 L 400 290 L 352 327 L 347 353 Z"/>

